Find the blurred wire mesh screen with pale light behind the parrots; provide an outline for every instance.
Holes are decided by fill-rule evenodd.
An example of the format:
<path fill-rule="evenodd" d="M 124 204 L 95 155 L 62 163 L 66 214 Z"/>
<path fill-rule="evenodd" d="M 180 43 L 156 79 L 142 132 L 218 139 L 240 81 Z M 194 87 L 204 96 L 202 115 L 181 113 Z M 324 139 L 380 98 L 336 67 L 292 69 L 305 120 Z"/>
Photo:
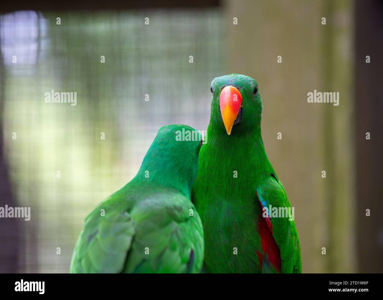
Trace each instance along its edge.
<path fill-rule="evenodd" d="M 19 11 L 0 27 L 3 147 L 31 207 L 18 271 L 68 272 L 83 219 L 136 174 L 160 126 L 206 130 L 225 70 L 221 11 Z M 77 105 L 46 103 L 51 90 L 77 92 Z"/>

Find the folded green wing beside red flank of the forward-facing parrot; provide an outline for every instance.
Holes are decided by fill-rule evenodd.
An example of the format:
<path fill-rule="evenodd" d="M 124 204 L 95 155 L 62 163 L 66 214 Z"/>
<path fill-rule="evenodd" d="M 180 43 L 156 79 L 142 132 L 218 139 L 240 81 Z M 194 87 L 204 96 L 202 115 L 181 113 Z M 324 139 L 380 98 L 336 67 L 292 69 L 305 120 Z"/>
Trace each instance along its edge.
<path fill-rule="evenodd" d="M 263 207 L 290 208 L 290 202 L 285 189 L 276 176 L 269 176 L 257 187 L 257 196 Z M 271 214 L 271 212 L 270 212 Z M 280 249 L 281 272 L 301 273 L 301 248 L 295 221 L 289 217 L 270 218 L 272 234 Z"/>

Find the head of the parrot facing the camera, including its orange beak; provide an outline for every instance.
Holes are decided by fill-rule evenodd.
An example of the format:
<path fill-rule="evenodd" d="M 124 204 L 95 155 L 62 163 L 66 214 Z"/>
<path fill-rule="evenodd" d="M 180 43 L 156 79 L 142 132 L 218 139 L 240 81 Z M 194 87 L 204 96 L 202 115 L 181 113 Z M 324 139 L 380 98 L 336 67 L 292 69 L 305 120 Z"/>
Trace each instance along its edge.
<path fill-rule="evenodd" d="M 216 77 L 211 92 L 211 126 L 229 135 L 260 127 L 262 101 L 254 79 L 241 74 Z"/>

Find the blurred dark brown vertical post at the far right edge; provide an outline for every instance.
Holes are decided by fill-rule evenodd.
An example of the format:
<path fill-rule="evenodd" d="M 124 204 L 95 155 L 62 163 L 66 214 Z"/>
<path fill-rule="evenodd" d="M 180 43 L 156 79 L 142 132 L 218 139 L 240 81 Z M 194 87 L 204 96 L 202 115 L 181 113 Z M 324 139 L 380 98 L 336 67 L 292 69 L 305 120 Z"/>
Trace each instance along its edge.
<path fill-rule="evenodd" d="M 382 273 L 383 3 L 357 0 L 355 20 L 358 269 Z"/>

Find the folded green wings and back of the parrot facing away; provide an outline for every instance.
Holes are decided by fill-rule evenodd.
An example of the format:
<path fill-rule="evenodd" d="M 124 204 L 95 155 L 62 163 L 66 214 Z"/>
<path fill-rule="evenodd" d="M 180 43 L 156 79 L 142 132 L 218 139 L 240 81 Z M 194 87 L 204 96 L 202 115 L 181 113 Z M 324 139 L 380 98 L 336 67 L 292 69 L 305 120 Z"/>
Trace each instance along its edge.
<path fill-rule="evenodd" d="M 100 206 L 101 207 L 101 206 Z M 115 212 L 96 208 L 85 220 L 74 249 L 72 273 L 198 273 L 203 228 L 190 200 L 156 195 Z M 105 204 L 102 205 L 105 207 Z M 190 216 L 190 209 L 193 216 Z M 113 211 L 113 212 L 110 212 Z"/>

